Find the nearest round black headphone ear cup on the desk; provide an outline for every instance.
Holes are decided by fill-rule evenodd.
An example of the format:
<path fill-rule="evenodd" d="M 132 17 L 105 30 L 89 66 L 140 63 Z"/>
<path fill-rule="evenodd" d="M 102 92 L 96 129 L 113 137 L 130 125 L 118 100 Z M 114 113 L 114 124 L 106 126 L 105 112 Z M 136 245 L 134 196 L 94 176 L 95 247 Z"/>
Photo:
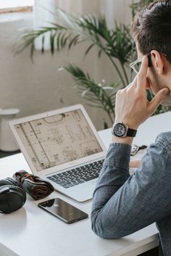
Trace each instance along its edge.
<path fill-rule="evenodd" d="M 9 213 L 19 210 L 26 201 L 26 192 L 20 186 L 0 187 L 0 212 Z"/>

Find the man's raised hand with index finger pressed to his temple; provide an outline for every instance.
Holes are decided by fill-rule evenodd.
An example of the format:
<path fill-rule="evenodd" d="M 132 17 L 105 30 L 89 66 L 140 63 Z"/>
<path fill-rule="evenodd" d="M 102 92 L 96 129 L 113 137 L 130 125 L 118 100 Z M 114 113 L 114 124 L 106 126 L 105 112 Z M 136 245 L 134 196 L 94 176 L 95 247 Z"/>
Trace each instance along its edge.
<path fill-rule="evenodd" d="M 143 57 L 141 70 L 126 88 L 117 91 L 115 105 L 115 122 L 123 122 L 129 128 L 137 130 L 147 118 L 149 118 L 169 92 L 168 88 L 162 88 L 149 102 L 146 98 L 146 73 L 148 57 Z"/>

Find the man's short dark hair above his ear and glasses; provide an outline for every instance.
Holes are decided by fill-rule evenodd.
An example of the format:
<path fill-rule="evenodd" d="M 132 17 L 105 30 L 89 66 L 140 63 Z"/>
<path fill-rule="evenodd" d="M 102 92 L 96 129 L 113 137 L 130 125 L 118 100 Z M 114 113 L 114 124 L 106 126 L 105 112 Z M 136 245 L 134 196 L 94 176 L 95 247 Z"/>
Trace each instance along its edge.
<path fill-rule="evenodd" d="M 171 64 L 171 1 L 156 0 L 144 7 L 134 17 L 131 35 L 143 54 L 162 52 Z"/>

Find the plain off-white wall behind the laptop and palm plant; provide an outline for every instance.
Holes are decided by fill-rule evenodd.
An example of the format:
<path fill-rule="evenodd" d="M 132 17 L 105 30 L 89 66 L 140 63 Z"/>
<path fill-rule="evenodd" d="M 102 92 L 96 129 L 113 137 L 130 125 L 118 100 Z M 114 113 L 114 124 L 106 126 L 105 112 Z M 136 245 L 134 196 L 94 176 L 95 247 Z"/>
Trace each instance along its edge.
<path fill-rule="evenodd" d="M 61 1 L 66 7 L 67 2 L 69 0 Z M 77 5 L 80 0 L 71 2 L 71 12 L 104 12 L 111 26 L 114 19 L 121 22 L 129 20 L 128 0 L 82 0 L 81 9 L 80 5 Z M 21 110 L 20 116 L 25 116 L 83 103 L 96 128 L 103 129 L 104 117 L 107 120 L 105 113 L 88 107 L 78 91 L 73 89 L 75 82 L 70 75 L 58 72 L 58 68 L 72 62 L 83 67 L 100 82 L 105 75 L 107 80 L 112 81 L 112 66 L 107 60 L 103 62 L 103 59 L 97 59 L 96 50 L 83 60 L 85 46 L 77 46 L 70 54 L 67 51 L 55 53 L 53 57 L 49 51 L 44 55 L 36 51 L 34 63 L 30 61 L 29 50 L 14 55 L 11 49 L 17 41 L 19 30 L 30 25 L 33 25 L 33 17 L 30 14 L 25 14 L 20 20 L 0 22 L 0 108 L 17 107 Z"/>

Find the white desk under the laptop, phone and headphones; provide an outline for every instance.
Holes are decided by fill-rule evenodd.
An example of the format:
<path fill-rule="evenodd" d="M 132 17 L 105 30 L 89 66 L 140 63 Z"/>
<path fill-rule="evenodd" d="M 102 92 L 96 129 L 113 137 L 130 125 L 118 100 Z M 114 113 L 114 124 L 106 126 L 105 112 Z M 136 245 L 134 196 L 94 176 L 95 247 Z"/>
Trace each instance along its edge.
<path fill-rule="evenodd" d="M 170 117 L 171 112 L 151 117 L 139 128 L 135 143 L 149 144 L 159 132 L 171 129 Z M 110 129 L 100 131 L 99 135 L 108 146 Z M 22 153 L 0 159 L 0 178 L 11 177 L 21 169 L 30 171 Z M 54 197 L 70 202 L 90 216 L 91 200 L 79 203 L 57 192 L 49 196 Z M 17 212 L 0 214 L 1 256 L 135 256 L 158 245 L 155 224 L 122 239 L 101 239 L 91 231 L 90 218 L 68 225 L 38 208 L 38 202 L 28 196 Z"/>

